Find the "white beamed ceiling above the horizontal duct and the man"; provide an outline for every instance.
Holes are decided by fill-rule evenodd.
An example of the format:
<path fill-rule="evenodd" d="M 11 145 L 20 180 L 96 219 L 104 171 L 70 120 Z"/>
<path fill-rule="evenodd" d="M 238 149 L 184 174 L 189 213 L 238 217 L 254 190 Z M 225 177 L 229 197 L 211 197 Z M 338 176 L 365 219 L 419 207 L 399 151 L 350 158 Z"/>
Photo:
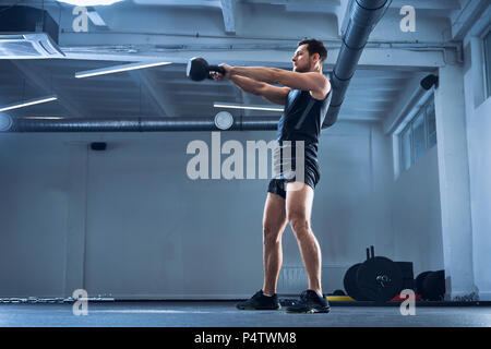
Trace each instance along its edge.
<path fill-rule="evenodd" d="M 422 76 L 448 60 L 458 61 L 472 1 L 479 2 L 409 1 L 416 9 L 417 31 L 404 33 L 400 8 L 408 1 L 393 0 L 370 36 L 339 120 L 383 122 L 399 111 L 395 110 L 398 100 L 410 95 Z M 76 15 L 71 5 L 49 0 L 20 4 L 48 10 L 60 25 L 59 46 L 67 57 L 0 59 L 0 106 L 51 94 L 59 98 L 12 110 L 12 117 L 204 117 L 224 110 L 214 108 L 215 101 L 266 105 L 229 82 L 188 80 L 185 62 L 201 56 L 212 63 L 291 69 L 296 43 L 318 37 L 328 48 L 324 73 L 330 73 L 349 20 L 349 0 L 127 0 L 89 8 L 104 25 L 89 21 L 84 33 L 74 31 Z M 74 77 L 80 71 L 155 59 L 172 64 Z M 233 116 L 279 116 L 275 111 L 229 111 Z"/>

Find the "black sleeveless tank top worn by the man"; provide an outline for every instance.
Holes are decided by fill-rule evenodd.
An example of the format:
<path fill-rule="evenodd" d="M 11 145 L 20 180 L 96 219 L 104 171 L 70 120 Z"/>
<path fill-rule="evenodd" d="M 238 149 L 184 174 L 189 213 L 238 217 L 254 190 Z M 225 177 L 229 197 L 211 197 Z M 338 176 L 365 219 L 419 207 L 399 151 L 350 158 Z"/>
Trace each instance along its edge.
<path fill-rule="evenodd" d="M 327 115 L 331 92 L 323 100 L 314 99 L 309 91 L 291 89 L 279 118 L 277 141 L 304 141 L 306 146 L 318 152 L 322 123 Z"/>

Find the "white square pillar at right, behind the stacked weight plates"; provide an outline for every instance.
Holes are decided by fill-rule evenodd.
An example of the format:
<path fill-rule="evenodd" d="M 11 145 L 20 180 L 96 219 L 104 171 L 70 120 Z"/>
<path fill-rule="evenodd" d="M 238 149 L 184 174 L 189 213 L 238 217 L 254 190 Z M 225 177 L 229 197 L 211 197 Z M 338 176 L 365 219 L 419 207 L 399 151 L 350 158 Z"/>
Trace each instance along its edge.
<path fill-rule="evenodd" d="M 440 68 L 434 93 L 446 299 L 476 292 L 463 68 Z"/>

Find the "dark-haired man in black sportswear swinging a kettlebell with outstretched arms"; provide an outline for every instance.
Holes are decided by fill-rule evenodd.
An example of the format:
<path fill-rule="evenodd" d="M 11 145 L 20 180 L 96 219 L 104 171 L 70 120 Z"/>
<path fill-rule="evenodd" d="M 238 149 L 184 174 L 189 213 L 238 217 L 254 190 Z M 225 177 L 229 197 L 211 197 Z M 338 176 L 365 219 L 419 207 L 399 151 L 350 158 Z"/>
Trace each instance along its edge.
<path fill-rule="evenodd" d="M 288 151 L 292 155 L 289 159 L 282 157 L 282 168 L 289 166 L 296 172 L 298 169 L 295 168 L 295 160 L 299 156 L 295 154 L 295 149 L 298 152 L 295 142 L 304 146 L 303 176 L 280 176 L 270 182 L 263 217 L 264 284 L 251 299 L 237 304 L 238 309 L 280 309 L 276 285 L 283 261 L 282 234 L 289 222 L 300 248 L 309 289 L 301 293 L 300 301 L 288 308 L 287 312 L 330 311 L 321 287 L 321 249 L 310 226 L 314 189 L 321 177 L 316 159 L 318 143 L 331 100 L 331 84 L 322 74 L 326 57 L 327 50 L 322 41 L 306 39 L 298 44 L 291 59 L 292 72 L 275 68 L 220 64 L 226 74 L 212 73 L 217 81 L 228 79 L 247 93 L 285 106 L 278 123 L 277 141 L 283 154 L 290 146 Z"/>

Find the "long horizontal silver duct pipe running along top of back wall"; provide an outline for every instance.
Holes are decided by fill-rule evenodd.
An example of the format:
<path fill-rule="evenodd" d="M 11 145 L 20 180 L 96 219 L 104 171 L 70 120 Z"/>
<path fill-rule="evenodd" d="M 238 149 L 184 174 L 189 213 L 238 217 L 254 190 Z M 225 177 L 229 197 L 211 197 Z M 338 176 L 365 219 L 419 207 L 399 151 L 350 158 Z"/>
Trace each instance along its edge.
<path fill-rule="evenodd" d="M 238 117 L 229 131 L 276 130 L 278 117 Z M 221 131 L 211 117 L 189 118 L 11 118 L 0 132 L 166 132 Z"/>

